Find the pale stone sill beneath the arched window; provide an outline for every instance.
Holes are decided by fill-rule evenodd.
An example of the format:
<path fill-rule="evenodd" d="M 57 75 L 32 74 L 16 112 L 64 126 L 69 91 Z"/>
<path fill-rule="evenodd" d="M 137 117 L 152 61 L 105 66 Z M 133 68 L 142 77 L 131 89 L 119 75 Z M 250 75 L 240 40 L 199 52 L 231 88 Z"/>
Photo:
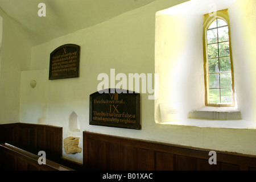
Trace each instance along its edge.
<path fill-rule="evenodd" d="M 209 107 L 204 106 L 197 110 L 189 111 L 188 118 L 234 120 L 241 119 L 241 112 L 236 107 Z"/>

